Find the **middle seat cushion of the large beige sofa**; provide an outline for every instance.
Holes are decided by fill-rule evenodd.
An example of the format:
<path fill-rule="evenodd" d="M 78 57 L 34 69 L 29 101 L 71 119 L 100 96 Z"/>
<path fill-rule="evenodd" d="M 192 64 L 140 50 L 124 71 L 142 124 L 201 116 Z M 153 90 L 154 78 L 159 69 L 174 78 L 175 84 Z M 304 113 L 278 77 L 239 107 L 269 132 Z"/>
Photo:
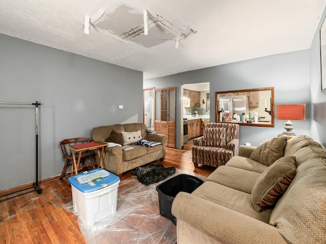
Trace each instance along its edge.
<path fill-rule="evenodd" d="M 207 180 L 251 194 L 259 176 L 260 173 L 222 165 L 215 169 Z"/>

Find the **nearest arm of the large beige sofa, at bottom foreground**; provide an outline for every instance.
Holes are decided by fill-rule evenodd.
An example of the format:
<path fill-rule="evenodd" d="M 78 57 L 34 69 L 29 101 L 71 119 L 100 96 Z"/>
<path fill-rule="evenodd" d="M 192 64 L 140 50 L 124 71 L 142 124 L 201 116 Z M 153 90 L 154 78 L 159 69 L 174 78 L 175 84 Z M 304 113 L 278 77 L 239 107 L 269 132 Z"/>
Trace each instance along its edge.
<path fill-rule="evenodd" d="M 216 243 L 287 243 L 276 227 L 189 193 L 175 197 L 172 214 L 177 228 L 185 223 Z"/>

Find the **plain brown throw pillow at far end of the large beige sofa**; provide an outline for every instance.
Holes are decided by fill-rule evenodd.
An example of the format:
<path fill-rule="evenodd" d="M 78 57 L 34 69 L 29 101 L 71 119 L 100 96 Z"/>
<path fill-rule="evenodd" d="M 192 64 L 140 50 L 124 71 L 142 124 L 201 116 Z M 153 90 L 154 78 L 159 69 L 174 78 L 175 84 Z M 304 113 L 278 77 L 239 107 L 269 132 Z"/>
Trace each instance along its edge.
<path fill-rule="evenodd" d="M 250 159 L 270 166 L 276 160 L 283 157 L 285 144 L 286 137 L 265 140 L 252 151 Z"/>

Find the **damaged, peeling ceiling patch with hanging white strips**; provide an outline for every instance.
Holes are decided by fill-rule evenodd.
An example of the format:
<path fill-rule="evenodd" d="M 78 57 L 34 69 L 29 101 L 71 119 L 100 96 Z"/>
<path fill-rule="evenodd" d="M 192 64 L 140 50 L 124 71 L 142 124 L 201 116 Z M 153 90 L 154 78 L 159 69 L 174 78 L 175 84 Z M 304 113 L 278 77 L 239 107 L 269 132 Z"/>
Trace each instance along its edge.
<path fill-rule="evenodd" d="M 100 15 L 99 15 L 100 13 Z M 182 30 L 147 9 L 136 9 L 126 4 L 99 10 L 90 18 L 91 27 L 125 43 L 137 43 L 146 48 L 171 40 L 180 41 L 195 33 L 188 27 Z M 99 16 L 99 17 L 98 17 Z M 87 17 L 87 16 L 86 16 Z M 85 18 L 85 33 L 87 27 Z M 146 35 L 148 32 L 148 35 Z"/>

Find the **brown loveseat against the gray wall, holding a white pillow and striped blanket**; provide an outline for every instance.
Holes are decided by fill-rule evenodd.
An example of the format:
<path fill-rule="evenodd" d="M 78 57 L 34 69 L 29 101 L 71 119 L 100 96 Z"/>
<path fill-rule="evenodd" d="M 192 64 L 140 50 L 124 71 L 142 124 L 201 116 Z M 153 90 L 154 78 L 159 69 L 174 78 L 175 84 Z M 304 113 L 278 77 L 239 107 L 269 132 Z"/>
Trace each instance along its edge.
<path fill-rule="evenodd" d="M 153 147 L 143 145 L 131 145 L 133 149 L 122 150 L 120 146 L 105 147 L 103 151 L 104 169 L 121 176 L 122 173 L 148 164 L 155 160 L 163 161 L 166 152 L 167 136 L 162 134 L 148 134 L 146 125 L 141 123 L 132 123 L 125 125 L 100 126 L 92 130 L 94 141 L 106 141 L 113 131 L 120 134 L 122 132 L 137 132 L 140 130 L 142 139 L 161 142 L 162 144 Z"/>

